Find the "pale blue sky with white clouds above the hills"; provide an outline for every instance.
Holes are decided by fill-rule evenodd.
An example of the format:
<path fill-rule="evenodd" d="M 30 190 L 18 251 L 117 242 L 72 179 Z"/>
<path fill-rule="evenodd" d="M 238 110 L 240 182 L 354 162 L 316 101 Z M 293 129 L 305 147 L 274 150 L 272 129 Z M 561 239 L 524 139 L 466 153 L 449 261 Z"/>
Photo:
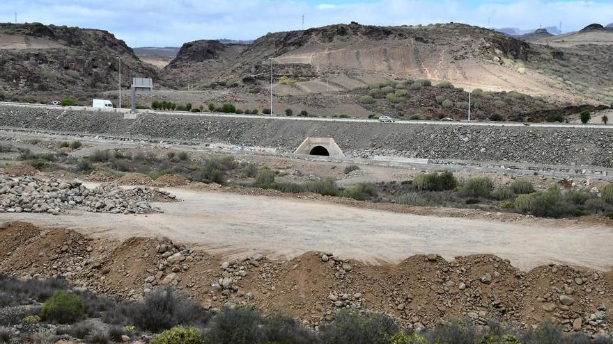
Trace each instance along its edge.
<path fill-rule="evenodd" d="M 349 23 L 463 22 L 486 27 L 613 22 L 613 0 L 0 0 L 0 22 L 41 22 L 114 33 L 131 47 L 199 39 L 251 40 L 268 32 Z M 489 21 L 489 26 L 488 26 Z"/>

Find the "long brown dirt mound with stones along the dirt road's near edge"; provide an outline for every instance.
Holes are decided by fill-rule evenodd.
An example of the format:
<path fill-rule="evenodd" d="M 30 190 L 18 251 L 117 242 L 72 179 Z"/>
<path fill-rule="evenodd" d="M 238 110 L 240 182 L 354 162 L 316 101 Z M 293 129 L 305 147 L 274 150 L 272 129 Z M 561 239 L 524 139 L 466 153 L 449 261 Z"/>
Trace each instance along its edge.
<path fill-rule="evenodd" d="M 307 252 L 290 261 L 261 254 L 221 259 L 165 238 L 93 240 L 65 229 L 38 229 L 23 222 L 0 227 L 7 252 L 0 272 L 18 276 L 65 275 L 96 293 L 140 297 L 171 285 L 210 307 L 251 303 L 281 309 L 318 325 L 336 309 L 394 314 L 411 327 L 433 327 L 449 317 L 485 325 L 496 317 L 529 326 L 552 320 L 594 333 L 610 331 L 610 272 L 541 266 L 529 272 L 492 255 L 411 256 L 397 265 L 366 265 L 331 252 Z"/>

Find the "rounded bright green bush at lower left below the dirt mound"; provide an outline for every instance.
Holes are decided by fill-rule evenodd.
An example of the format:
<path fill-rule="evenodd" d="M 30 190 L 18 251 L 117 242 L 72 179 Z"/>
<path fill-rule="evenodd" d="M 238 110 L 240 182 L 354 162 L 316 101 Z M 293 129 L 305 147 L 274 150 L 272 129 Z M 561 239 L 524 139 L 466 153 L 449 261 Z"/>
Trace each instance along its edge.
<path fill-rule="evenodd" d="M 85 314 L 85 302 L 79 297 L 66 291 L 58 291 L 49 297 L 42 305 L 40 315 L 45 320 L 56 321 L 61 324 L 75 322 Z"/>

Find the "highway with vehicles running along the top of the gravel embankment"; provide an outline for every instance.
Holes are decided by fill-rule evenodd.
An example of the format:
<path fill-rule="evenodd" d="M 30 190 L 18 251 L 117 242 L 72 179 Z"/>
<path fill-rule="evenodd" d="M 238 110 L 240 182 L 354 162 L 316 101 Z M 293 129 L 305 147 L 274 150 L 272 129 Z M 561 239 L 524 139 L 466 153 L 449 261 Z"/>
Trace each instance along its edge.
<path fill-rule="evenodd" d="M 92 108 L 89 106 L 52 106 L 44 104 L 24 104 L 11 103 L 0 101 L 0 106 L 16 106 L 16 107 L 32 107 L 45 108 L 49 110 L 82 110 L 94 112 L 111 112 L 111 113 L 130 113 L 129 108 Z M 282 120 L 282 121 L 318 121 L 318 122 L 354 122 L 354 123 L 372 123 L 379 125 L 447 125 L 447 126 L 521 126 L 530 128 L 575 128 L 575 129 L 608 129 L 613 130 L 613 125 L 605 124 L 566 124 L 566 123 L 523 123 L 523 122 L 467 122 L 467 121 L 424 121 L 424 120 L 396 120 L 391 123 L 379 123 L 378 120 L 361 119 L 361 118 L 330 118 L 330 117 L 288 117 L 277 115 L 237 115 L 230 113 L 192 113 L 185 111 L 160 111 L 160 110 L 137 110 L 139 114 L 156 114 L 156 115 L 182 115 L 182 116 L 201 116 L 201 117 L 231 117 L 231 118 L 247 118 L 254 120 Z"/>

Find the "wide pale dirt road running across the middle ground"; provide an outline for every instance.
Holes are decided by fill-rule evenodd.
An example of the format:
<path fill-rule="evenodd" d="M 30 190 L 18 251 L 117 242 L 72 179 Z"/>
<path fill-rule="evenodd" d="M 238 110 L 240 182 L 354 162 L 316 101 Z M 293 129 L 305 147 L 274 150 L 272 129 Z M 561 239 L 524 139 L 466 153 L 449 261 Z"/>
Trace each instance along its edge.
<path fill-rule="evenodd" d="M 346 258 L 397 262 L 413 254 L 490 253 L 522 269 L 567 263 L 613 267 L 613 229 L 560 228 L 559 221 L 497 222 L 367 210 L 327 202 L 166 189 L 183 202 L 156 204 L 154 215 L 75 211 L 68 215 L 2 213 L 0 220 L 68 227 L 95 236 L 167 236 L 218 254 L 256 250 L 272 258 L 309 250 Z"/>

